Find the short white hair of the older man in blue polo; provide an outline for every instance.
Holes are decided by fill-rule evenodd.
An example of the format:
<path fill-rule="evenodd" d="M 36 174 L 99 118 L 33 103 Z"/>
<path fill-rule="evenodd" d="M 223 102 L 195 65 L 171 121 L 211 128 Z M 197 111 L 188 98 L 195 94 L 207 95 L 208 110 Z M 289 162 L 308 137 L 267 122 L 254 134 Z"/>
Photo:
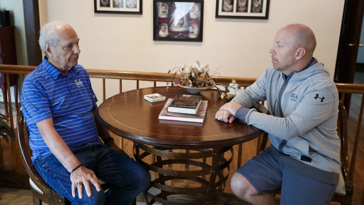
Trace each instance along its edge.
<path fill-rule="evenodd" d="M 39 31 L 39 46 L 40 49 L 47 55 L 46 48 L 44 47 L 47 43 L 52 47 L 58 46 L 59 43 L 59 29 L 57 26 L 70 26 L 70 24 L 63 21 L 52 21 L 46 23 Z M 72 27 L 71 27 L 72 28 Z"/>

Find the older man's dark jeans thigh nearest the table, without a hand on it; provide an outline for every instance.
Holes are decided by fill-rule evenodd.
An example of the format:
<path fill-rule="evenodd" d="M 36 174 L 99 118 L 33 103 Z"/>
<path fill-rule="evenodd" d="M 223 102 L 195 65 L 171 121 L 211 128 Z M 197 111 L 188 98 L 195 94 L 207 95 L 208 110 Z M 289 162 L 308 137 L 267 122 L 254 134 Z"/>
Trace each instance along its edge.
<path fill-rule="evenodd" d="M 97 152 L 95 174 L 102 181 L 119 188 L 134 189 L 143 192 L 150 183 L 149 170 L 118 151 L 107 146 Z"/>

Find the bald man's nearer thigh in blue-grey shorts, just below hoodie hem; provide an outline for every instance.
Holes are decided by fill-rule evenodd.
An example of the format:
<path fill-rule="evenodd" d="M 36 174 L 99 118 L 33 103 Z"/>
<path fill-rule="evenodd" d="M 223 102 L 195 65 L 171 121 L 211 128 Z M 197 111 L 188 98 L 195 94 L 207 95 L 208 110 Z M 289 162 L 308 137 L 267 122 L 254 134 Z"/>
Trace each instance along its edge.
<path fill-rule="evenodd" d="M 330 204 L 336 185 L 306 177 L 284 166 L 280 204 Z"/>

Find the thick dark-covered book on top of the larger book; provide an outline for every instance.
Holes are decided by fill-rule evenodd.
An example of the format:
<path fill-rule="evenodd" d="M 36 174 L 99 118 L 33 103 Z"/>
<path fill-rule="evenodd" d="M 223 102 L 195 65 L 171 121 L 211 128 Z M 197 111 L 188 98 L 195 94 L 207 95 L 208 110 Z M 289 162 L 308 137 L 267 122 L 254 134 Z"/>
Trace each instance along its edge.
<path fill-rule="evenodd" d="M 177 112 L 195 115 L 201 104 L 201 96 L 180 94 L 174 97 L 168 106 L 168 112 Z"/>

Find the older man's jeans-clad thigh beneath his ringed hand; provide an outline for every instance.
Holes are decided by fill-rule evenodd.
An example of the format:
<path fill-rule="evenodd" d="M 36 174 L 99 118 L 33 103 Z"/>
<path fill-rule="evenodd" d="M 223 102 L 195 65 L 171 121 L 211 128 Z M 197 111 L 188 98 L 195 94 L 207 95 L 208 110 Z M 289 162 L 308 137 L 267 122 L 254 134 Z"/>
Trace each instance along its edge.
<path fill-rule="evenodd" d="M 48 155 L 44 158 L 35 159 L 33 162 L 35 169 L 41 175 L 41 177 L 54 189 L 57 193 L 66 197 L 72 202 L 72 204 L 103 204 L 105 201 L 104 191 L 101 189 L 98 192 L 94 185 L 90 184 L 91 197 L 87 196 L 84 186 L 83 198 L 78 197 L 78 191 L 76 189 L 76 197 L 72 197 L 72 182 L 70 179 L 70 173 L 59 162 L 54 155 Z"/>

